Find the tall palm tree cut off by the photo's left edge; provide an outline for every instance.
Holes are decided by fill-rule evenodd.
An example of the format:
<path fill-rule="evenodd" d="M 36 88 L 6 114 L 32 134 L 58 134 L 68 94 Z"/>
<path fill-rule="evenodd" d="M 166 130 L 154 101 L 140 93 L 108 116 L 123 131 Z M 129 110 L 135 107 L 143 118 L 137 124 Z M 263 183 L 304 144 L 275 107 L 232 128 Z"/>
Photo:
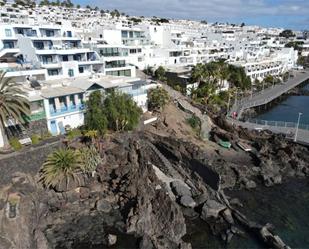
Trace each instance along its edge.
<path fill-rule="evenodd" d="M 5 124 L 8 119 L 24 122 L 24 117 L 30 114 L 30 105 L 26 93 L 12 78 L 4 78 L 5 73 L 0 73 L 0 131 L 3 136 L 4 146 L 8 145 Z"/>

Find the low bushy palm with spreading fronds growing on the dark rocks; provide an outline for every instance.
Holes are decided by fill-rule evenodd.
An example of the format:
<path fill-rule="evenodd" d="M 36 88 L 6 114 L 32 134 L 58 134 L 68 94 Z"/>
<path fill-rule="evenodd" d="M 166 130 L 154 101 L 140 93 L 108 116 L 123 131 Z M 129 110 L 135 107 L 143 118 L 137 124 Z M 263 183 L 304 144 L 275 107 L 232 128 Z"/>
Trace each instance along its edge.
<path fill-rule="evenodd" d="M 41 171 L 40 181 L 47 188 L 55 188 L 66 184 L 70 180 L 79 182 L 78 174 L 81 172 L 83 160 L 78 150 L 59 149 L 51 153 Z"/>

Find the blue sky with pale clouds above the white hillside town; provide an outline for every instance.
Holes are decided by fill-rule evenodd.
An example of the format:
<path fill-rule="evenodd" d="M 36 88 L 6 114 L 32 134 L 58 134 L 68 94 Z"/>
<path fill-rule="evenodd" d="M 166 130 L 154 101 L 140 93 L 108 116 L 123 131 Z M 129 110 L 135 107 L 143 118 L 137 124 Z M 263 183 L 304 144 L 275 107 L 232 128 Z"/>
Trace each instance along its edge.
<path fill-rule="evenodd" d="M 129 15 L 309 29 L 309 0 L 73 0 Z"/>

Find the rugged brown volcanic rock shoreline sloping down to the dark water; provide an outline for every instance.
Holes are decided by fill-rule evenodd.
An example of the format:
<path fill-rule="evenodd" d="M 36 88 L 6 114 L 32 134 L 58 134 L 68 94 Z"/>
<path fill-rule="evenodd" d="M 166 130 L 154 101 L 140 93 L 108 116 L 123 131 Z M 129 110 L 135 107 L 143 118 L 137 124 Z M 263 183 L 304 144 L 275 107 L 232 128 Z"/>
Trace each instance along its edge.
<path fill-rule="evenodd" d="M 268 221 L 260 225 L 248 220 L 238 211 L 242 204 L 224 191 L 307 177 L 308 147 L 230 126 L 223 117 L 215 123 L 212 135 L 232 143 L 229 156 L 146 130 L 102 141 L 104 162 L 95 175 L 66 191 L 45 190 L 38 184 L 38 171 L 20 168 L 9 183 L 1 184 L 0 248 L 117 246 L 117 236 L 127 236 L 128 248 L 189 249 L 190 239 L 183 239 L 186 219 L 197 217 L 226 243 L 250 231 L 265 246 L 289 248 Z M 237 149 L 239 139 L 254 152 Z M 15 216 L 10 215 L 13 195 L 19 200 Z"/>

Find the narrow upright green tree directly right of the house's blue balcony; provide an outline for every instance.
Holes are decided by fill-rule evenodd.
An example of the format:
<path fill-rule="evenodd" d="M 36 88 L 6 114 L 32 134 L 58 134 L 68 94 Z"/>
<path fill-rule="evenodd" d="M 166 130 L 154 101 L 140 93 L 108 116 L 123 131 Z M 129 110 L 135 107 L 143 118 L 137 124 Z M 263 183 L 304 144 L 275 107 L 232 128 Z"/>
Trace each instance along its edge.
<path fill-rule="evenodd" d="M 100 91 L 92 92 L 86 103 L 85 113 L 86 130 L 96 130 L 100 135 L 106 132 L 107 120 L 104 113 L 103 96 Z"/>

